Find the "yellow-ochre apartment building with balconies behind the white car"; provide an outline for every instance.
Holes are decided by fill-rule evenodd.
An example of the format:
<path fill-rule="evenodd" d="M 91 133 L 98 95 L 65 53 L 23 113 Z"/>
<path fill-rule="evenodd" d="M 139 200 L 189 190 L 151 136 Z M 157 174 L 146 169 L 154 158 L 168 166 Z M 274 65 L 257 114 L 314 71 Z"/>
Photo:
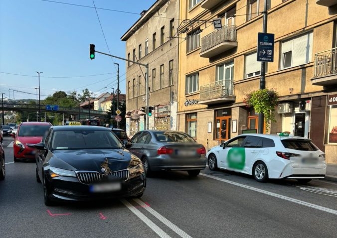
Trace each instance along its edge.
<path fill-rule="evenodd" d="M 311 138 L 337 163 L 337 0 L 268 0 L 274 62 L 266 87 L 280 102 L 267 133 Z M 264 0 L 181 0 L 179 130 L 208 148 L 256 132 L 258 115 L 245 94 L 259 89 L 257 35 Z M 214 19 L 222 27 L 215 29 Z M 185 39 L 184 39 L 185 38 Z"/>

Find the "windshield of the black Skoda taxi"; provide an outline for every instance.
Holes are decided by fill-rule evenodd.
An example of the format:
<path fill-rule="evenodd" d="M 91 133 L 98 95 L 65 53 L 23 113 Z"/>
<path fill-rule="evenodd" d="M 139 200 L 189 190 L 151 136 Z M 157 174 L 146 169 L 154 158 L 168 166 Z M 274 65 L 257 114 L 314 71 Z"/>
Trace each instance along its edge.
<path fill-rule="evenodd" d="M 52 136 L 51 149 L 121 149 L 123 144 L 111 131 L 60 130 Z"/>

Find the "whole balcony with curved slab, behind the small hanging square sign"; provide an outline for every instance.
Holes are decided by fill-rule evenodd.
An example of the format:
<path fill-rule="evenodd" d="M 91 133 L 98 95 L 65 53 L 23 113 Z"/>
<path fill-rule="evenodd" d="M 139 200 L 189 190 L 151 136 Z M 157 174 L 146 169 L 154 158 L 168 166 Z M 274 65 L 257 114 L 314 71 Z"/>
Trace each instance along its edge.
<path fill-rule="evenodd" d="M 210 58 L 235 47 L 236 25 L 224 25 L 201 38 L 200 57 Z"/>

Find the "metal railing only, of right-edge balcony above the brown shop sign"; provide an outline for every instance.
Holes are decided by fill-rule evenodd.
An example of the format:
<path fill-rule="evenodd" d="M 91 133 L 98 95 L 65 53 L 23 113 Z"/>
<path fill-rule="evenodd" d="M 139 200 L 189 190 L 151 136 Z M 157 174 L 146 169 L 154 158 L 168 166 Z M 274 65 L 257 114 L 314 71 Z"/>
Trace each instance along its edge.
<path fill-rule="evenodd" d="M 315 54 L 314 78 L 337 73 L 337 47 Z"/>

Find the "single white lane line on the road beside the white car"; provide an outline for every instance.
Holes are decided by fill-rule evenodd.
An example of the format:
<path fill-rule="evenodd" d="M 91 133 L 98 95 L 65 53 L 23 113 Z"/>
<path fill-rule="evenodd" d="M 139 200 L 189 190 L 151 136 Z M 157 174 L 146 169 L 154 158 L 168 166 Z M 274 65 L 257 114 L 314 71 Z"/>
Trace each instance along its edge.
<path fill-rule="evenodd" d="M 337 215 L 337 210 L 334 210 L 334 209 L 322 207 L 322 206 L 312 204 L 312 203 L 307 203 L 307 202 L 304 202 L 304 201 L 301 201 L 301 200 L 298 200 L 298 199 L 295 199 L 295 198 L 287 197 L 287 196 L 284 196 L 284 195 L 281 195 L 281 194 L 269 192 L 269 191 L 259 189 L 259 188 L 254 188 L 254 187 L 251 187 L 251 186 L 248 186 L 248 185 L 236 183 L 236 182 L 233 182 L 233 181 L 230 181 L 230 180 L 227 180 L 227 179 L 218 178 L 218 177 L 215 177 L 215 176 L 212 176 L 212 175 L 203 174 L 203 173 L 200 173 L 200 175 L 208 177 L 208 178 L 212 178 L 212 179 L 215 179 L 215 180 L 218 180 L 218 181 L 221 181 L 221 182 L 229 183 L 229 184 L 232 184 L 232 185 L 235 185 L 235 186 L 239 186 L 239 187 L 242 187 L 242 188 L 246 188 L 246 189 L 249 189 L 249 190 L 253 190 L 255 192 L 263 193 L 263 194 L 266 194 L 266 195 L 269 195 L 269 196 L 272 196 L 272 197 L 276 197 L 276 198 L 287 200 L 287 201 L 290 201 L 290 202 L 293 202 L 293 203 L 297 203 L 297 204 L 300 204 L 300 205 L 303 205 L 303 206 L 306 206 L 306 207 L 314 208 L 314 209 L 317 209 L 317 210 L 320 210 L 320 211 L 323 211 L 323 212 L 327 212 L 327 213 Z"/>

